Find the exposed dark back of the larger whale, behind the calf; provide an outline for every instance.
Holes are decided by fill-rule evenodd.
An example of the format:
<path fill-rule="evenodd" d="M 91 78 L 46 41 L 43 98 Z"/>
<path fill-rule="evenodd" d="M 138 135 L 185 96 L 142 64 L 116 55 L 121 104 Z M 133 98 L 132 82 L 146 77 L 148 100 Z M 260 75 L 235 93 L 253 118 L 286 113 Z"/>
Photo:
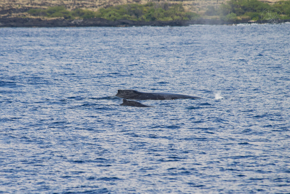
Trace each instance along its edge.
<path fill-rule="evenodd" d="M 118 90 L 116 96 L 129 100 L 174 100 L 201 98 L 171 92 L 138 92 L 136 90 Z"/>

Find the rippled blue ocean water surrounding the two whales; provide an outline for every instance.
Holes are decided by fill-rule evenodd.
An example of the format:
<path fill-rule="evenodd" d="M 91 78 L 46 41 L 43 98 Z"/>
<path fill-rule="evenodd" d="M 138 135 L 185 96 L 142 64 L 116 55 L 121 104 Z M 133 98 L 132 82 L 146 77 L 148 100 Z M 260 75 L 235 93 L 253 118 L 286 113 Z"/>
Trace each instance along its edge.
<path fill-rule="evenodd" d="M 0 28 L 0 193 L 289 193 L 289 27 Z"/>

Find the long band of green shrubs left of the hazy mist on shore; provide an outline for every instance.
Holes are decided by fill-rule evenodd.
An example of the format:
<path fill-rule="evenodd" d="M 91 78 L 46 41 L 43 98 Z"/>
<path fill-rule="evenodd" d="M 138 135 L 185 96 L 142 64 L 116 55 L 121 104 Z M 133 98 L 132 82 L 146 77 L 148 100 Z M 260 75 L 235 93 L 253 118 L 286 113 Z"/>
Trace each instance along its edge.
<path fill-rule="evenodd" d="M 64 17 L 65 19 L 99 17 L 108 20 L 130 19 L 139 21 L 170 21 L 175 19 L 197 19 L 199 17 L 197 13 L 185 12 L 181 3 L 169 5 L 168 3 L 152 2 L 145 5 L 134 3 L 111 6 L 101 8 L 97 12 L 85 9 L 68 11 L 63 6 L 56 6 L 46 10 L 31 9 L 28 13 L 33 16 Z"/>

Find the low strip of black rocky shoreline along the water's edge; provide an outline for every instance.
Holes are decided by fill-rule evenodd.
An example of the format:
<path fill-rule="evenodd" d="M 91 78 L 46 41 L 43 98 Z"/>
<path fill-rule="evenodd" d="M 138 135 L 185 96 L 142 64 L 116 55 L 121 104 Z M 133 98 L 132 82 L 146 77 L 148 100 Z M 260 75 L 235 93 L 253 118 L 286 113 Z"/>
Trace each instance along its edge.
<path fill-rule="evenodd" d="M 289 22 L 289 21 L 284 21 Z M 2 17 L 0 18 L 0 27 L 130 27 L 130 26 L 189 26 L 192 24 L 209 24 L 209 25 L 231 25 L 240 23 L 262 23 L 261 21 L 237 21 L 225 22 L 214 19 L 197 19 L 197 20 L 173 20 L 173 21 L 132 21 L 120 19 L 110 21 L 102 18 L 91 19 L 40 19 L 40 18 L 21 18 L 21 17 Z"/>

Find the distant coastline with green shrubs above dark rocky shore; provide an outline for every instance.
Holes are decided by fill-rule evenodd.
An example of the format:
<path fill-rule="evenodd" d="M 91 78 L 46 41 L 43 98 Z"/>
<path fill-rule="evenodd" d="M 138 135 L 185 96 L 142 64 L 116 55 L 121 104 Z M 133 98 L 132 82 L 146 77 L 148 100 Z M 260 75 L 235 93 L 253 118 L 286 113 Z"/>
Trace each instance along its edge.
<path fill-rule="evenodd" d="M 186 10 L 182 3 L 167 2 L 127 3 L 99 8 L 96 11 L 86 7 L 68 8 L 64 5 L 46 7 L 19 5 L 19 8 L 0 7 L 0 27 L 279 24 L 290 21 L 289 10 L 290 0 L 280 0 L 272 4 L 259 0 L 227 0 L 219 6 L 206 6 L 203 12 Z"/>

